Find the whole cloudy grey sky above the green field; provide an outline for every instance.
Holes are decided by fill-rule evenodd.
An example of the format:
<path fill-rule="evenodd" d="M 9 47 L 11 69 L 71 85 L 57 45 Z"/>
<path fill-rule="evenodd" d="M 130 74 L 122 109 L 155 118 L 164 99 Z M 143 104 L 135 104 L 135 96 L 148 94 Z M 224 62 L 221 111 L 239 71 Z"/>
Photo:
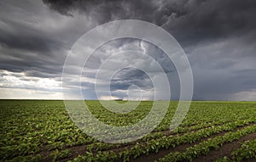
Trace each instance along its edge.
<path fill-rule="evenodd" d="M 255 17 L 255 0 L 2 0 L 0 98 L 62 99 L 62 92 L 73 98 L 72 89 L 80 86 L 79 81 L 70 78 L 63 88 L 61 76 L 67 54 L 79 37 L 113 20 L 143 20 L 168 31 L 183 47 L 193 72 L 194 100 L 255 101 Z M 113 56 L 129 49 L 148 53 L 162 65 L 172 99 L 178 99 L 179 79 L 172 61 L 159 47 L 137 38 L 120 38 L 96 49 L 81 76 L 84 98 L 137 99 L 143 94 L 142 99 L 154 99 L 154 84 L 143 70 L 113 71 L 113 66 L 126 60 L 148 67 L 150 74 L 161 78 L 154 61 L 143 55 Z M 96 96 L 96 70 L 106 59 L 111 64 L 104 74 L 114 72 L 111 83 L 104 75 L 97 81 L 102 89 L 110 87 L 112 96 L 103 90 Z M 71 69 L 75 71 L 76 64 Z M 156 99 L 166 99 L 165 89 Z"/>

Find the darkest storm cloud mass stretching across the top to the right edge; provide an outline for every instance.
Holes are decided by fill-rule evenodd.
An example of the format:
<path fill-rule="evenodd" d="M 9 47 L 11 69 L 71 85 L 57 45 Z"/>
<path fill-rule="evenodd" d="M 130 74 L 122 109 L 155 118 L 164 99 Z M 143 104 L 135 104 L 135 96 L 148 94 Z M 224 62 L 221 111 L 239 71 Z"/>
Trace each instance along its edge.
<path fill-rule="evenodd" d="M 110 20 L 146 20 L 164 27 L 184 45 L 239 36 L 255 31 L 254 0 L 179 1 L 52 1 L 44 0 L 61 14 L 78 10 L 100 24 Z"/>

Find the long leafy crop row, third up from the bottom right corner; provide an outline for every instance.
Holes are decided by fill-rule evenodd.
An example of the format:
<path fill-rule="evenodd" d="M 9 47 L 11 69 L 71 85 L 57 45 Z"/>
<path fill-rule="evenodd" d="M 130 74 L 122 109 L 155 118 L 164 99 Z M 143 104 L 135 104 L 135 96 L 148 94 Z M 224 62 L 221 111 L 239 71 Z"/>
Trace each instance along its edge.
<path fill-rule="evenodd" d="M 149 140 L 148 142 L 137 142 L 137 144 L 134 145 L 133 147 L 126 148 L 125 150 L 120 151 L 119 153 L 114 153 L 113 151 L 101 151 L 101 149 L 104 148 L 97 148 L 98 150 L 96 154 L 86 152 L 85 155 L 79 156 L 76 159 L 73 159 L 73 161 L 99 161 L 102 159 L 121 159 L 123 161 L 129 161 L 131 157 L 136 159 L 138 156 L 142 154 L 158 153 L 160 148 L 175 148 L 180 144 L 200 141 L 202 138 L 210 137 L 213 134 L 222 131 L 233 131 L 238 126 L 246 126 L 250 123 L 253 123 L 253 121 L 253 119 L 241 120 L 236 121 L 234 123 L 228 123 L 224 126 L 212 126 L 211 128 L 207 128 L 204 130 L 192 131 L 189 133 L 185 133 L 182 136 L 160 137 L 157 139 Z M 112 156 L 109 156 L 109 154 L 111 154 Z"/>

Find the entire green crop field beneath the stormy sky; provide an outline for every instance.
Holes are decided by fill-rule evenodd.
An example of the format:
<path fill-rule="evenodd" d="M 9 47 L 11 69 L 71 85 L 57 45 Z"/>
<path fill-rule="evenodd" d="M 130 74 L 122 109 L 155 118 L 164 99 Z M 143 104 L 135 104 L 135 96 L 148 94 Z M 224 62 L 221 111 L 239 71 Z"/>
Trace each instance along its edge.
<path fill-rule="evenodd" d="M 128 126 L 143 120 L 153 102 L 123 115 L 86 103 L 102 122 Z M 113 144 L 80 131 L 63 101 L 0 100 L 0 161 L 256 161 L 255 102 L 192 102 L 183 123 L 169 131 L 176 107 L 171 102 L 146 137 Z"/>

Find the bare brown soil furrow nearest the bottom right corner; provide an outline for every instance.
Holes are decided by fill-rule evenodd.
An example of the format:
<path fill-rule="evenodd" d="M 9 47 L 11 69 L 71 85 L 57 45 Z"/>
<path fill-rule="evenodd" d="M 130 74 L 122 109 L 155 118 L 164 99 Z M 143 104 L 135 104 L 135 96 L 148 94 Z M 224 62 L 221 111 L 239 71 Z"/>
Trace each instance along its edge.
<path fill-rule="evenodd" d="M 245 142 L 247 140 L 256 139 L 256 132 L 252 134 L 248 134 L 247 136 L 241 137 L 241 139 L 234 141 L 234 142 L 228 142 L 224 143 L 224 145 L 219 148 L 218 150 L 212 150 L 209 154 L 200 156 L 199 158 L 193 160 L 193 162 L 201 162 L 201 161 L 215 161 L 218 158 L 221 158 L 223 156 L 231 157 L 230 154 L 233 149 L 240 148 L 240 145 L 242 142 Z"/>

